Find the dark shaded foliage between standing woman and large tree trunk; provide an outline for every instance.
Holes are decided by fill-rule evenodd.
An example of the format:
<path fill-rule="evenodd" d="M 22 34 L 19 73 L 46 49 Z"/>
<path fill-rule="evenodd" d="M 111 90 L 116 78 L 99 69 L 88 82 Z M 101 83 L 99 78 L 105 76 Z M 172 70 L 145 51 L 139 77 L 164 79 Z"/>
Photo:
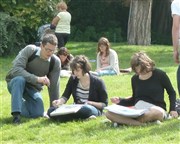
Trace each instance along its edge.
<path fill-rule="evenodd" d="M 126 40 L 128 8 L 121 0 L 70 1 L 72 41 L 94 41 L 106 36 L 114 42 Z M 124 11 L 124 12 L 123 12 Z"/>

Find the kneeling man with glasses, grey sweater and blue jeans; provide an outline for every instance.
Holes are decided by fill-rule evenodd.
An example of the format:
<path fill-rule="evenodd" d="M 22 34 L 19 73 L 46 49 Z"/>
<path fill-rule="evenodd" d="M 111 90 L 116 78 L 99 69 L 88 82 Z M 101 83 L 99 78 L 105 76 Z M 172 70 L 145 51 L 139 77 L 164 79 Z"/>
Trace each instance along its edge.
<path fill-rule="evenodd" d="M 61 62 L 54 55 L 57 43 L 54 34 L 46 34 L 40 47 L 28 45 L 14 59 L 6 76 L 11 93 L 13 123 L 20 123 L 20 115 L 29 118 L 43 116 L 44 104 L 40 91 L 44 85 L 48 87 L 50 106 L 52 101 L 58 99 Z M 34 58 L 29 61 L 33 53 Z M 53 67 L 49 70 L 52 60 Z"/>

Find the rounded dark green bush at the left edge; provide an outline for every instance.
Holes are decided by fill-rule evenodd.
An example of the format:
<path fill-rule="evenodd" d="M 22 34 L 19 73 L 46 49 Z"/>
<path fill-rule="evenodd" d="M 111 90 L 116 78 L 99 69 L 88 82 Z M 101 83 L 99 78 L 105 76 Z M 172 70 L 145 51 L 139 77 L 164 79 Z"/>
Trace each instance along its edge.
<path fill-rule="evenodd" d="M 23 30 L 15 17 L 0 12 L 0 56 L 16 53 L 25 46 Z"/>

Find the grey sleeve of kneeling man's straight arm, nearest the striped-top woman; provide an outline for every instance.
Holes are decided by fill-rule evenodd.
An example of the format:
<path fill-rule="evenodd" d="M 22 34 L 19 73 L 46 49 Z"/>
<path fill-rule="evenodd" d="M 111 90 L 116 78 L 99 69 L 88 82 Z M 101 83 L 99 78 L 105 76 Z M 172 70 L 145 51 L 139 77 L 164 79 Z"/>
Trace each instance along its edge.
<path fill-rule="evenodd" d="M 54 100 L 57 100 L 59 98 L 60 67 L 61 67 L 60 60 L 59 58 L 56 58 L 53 70 L 48 75 L 50 80 L 50 86 L 48 87 L 50 106 L 52 106 L 52 102 Z"/>

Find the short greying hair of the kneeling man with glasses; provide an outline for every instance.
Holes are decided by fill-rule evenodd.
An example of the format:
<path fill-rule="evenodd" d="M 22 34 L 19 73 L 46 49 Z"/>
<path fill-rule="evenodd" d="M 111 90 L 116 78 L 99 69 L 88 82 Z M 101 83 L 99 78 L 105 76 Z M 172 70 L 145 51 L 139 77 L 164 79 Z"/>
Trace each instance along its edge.
<path fill-rule="evenodd" d="M 57 46 L 58 40 L 57 37 L 54 34 L 45 34 L 42 39 L 42 45 L 46 45 L 47 43 L 50 43 L 54 46 Z"/>

